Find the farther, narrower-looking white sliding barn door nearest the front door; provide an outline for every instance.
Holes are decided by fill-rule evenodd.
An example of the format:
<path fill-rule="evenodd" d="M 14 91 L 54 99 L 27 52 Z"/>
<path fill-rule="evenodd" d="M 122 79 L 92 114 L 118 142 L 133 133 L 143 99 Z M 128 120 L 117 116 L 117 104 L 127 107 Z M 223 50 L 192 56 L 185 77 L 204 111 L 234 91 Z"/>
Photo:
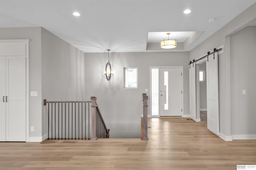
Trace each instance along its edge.
<path fill-rule="evenodd" d="M 189 66 L 189 114 L 196 121 L 196 63 Z"/>

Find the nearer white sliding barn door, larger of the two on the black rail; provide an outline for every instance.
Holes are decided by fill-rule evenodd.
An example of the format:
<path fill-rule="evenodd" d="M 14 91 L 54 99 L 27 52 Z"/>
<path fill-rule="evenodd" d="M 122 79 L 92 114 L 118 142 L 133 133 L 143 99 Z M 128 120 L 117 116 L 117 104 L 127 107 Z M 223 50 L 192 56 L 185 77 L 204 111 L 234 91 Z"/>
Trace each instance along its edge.
<path fill-rule="evenodd" d="M 206 60 L 207 128 L 219 135 L 218 52 Z"/>

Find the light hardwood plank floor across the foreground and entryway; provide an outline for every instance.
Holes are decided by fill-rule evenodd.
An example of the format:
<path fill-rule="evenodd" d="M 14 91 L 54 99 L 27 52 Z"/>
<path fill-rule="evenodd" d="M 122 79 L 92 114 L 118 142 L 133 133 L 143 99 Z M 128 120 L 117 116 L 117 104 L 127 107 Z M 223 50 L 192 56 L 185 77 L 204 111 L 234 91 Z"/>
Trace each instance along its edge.
<path fill-rule="evenodd" d="M 189 118 L 149 118 L 148 141 L 0 143 L 0 170 L 236 170 L 256 140 L 226 142 Z"/>

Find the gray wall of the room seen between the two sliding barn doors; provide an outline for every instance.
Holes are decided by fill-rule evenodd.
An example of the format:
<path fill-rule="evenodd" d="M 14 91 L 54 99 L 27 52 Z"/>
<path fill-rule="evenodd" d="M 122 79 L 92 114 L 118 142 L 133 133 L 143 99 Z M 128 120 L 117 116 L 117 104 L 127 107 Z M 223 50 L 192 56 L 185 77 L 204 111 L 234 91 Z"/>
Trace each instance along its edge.
<path fill-rule="evenodd" d="M 206 63 L 199 65 L 200 70 L 204 70 L 204 82 L 200 82 L 200 109 L 207 109 L 207 96 L 206 96 Z"/>

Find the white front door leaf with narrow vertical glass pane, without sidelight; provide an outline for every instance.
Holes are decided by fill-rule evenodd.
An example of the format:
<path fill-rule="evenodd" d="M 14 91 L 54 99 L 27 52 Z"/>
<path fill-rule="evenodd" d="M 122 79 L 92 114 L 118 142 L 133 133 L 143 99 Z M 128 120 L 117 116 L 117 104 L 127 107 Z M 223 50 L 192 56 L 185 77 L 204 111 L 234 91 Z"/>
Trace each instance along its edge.
<path fill-rule="evenodd" d="M 160 116 L 182 115 L 182 68 L 160 68 Z"/>

